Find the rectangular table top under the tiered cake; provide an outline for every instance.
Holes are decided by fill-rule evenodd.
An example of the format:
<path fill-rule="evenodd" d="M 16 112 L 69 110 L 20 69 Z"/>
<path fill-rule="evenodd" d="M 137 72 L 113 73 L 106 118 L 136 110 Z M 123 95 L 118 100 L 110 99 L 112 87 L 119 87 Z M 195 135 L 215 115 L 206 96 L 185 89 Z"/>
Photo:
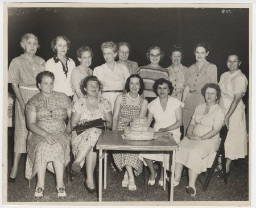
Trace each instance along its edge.
<path fill-rule="evenodd" d="M 96 149 L 131 150 L 131 151 L 177 151 L 179 146 L 169 132 L 155 133 L 157 139 L 135 141 L 123 139 L 123 131 L 103 131 Z"/>

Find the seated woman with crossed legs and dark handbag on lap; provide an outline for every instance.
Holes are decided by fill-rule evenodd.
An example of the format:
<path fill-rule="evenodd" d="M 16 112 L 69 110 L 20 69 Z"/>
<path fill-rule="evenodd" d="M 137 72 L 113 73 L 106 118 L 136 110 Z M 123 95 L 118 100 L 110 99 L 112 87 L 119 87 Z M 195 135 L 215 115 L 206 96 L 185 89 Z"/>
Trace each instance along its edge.
<path fill-rule="evenodd" d="M 106 121 L 106 126 L 112 126 L 111 106 L 107 99 L 98 96 L 100 81 L 95 76 L 88 76 L 82 81 L 80 90 L 85 97 L 75 102 L 71 113 L 71 127 L 74 130 L 77 124 L 83 124 L 90 120 L 101 118 Z M 75 161 L 72 164 L 71 173 L 75 177 L 85 163 L 86 180 L 85 188 L 89 193 L 96 192 L 93 182 L 93 172 L 96 165 L 97 153 L 93 147 L 98 141 L 102 130 L 100 128 L 88 128 L 77 136 L 72 132 L 71 145 Z"/>

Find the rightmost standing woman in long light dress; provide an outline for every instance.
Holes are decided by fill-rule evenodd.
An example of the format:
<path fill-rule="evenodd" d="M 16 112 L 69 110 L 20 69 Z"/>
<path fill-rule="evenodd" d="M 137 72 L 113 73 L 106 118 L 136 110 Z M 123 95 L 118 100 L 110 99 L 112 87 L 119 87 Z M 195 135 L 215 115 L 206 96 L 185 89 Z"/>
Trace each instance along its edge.
<path fill-rule="evenodd" d="M 247 155 L 245 105 L 242 97 L 246 93 L 248 81 L 239 69 L 241 62 L 237 52 L 229 53 L 226 63 L 229 72 L 224 72 L 218 83 L 221 89 L 220 106 L 225 110 L 225 124 L 229 130 L 225 141 L 227 173 L 232 160 Z"/>

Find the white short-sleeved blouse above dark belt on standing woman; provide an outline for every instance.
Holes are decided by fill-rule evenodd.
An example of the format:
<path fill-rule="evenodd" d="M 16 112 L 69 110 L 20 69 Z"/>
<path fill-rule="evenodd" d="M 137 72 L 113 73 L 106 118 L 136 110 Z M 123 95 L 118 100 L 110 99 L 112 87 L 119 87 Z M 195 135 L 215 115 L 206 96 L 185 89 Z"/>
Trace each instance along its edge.
<path fill-rule="evenodd" d="M 93 75 L 102 83 L 102 91 L 123 90 L 126 79 L 130 76 L 125 65 L 114 63 L 114 69 L 110 69 L 108 64 L 97 66 L 93 70 Z"/>

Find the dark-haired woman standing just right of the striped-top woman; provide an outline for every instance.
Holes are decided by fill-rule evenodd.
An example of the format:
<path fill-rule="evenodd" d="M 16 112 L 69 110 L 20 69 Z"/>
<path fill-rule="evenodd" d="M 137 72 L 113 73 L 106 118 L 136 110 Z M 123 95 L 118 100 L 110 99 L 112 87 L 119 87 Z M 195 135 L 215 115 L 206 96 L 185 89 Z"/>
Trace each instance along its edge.
<path fill-rule="evenodd" d="M 172 82 L 172 86 L 174 91 L 171 94 L 171 97 L 179 99 L 181 101 L 181 97 L 183 94 L 184 86 L 184 78 L 185 72 L 187 72 L 187 67 L 181 64 L 181 60 L 183 59 L 183 49 L 181 46 L 174 45 L 170 50 L 172 65 L 169 66 L 169 80 Z"/>

